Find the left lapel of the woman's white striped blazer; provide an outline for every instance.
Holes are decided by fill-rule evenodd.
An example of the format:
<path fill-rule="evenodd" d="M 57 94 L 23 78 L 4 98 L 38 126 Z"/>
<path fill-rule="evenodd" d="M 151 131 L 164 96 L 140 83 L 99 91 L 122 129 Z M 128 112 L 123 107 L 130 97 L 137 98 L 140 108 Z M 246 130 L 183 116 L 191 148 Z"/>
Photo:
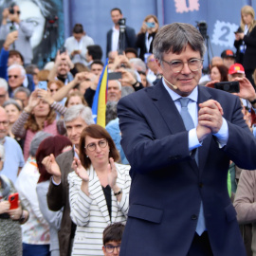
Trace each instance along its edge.
<path fill-rule="evenodd" d="M 89 173 L 89 192 L 91 194 L 91 197 L 93 198 L 93 200 L 96 201 L 107 224 L 110 224 L 110 217 L 109 217 L 109 213 L 106 205 L 104 192 L 101 188 L 101 182 L 96 172 L 94 171 L 92 165 L 89 168 L 88 173 Z"/>

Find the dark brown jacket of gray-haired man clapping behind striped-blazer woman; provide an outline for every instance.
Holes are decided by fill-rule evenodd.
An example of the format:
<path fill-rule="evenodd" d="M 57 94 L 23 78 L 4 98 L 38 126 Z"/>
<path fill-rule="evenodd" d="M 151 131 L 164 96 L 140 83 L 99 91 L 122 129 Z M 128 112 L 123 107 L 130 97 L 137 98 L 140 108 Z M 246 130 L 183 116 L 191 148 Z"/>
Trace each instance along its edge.
<path fill-rule="evenodd" d="M 59 186 L 55 186 L 52 182 L 50 182 L 47 192 L 47 204 L 49 210 L 61 210 L 64 207 L 63 220 L 58 234 L 61 256 L 69 255 L 68 252 L 71 250 L 70 237 L 72 221 L 70 218 L 69 186 L 67 182 L 67 175 L 72 171 L 71 164 L 73 157 L 73 149 L 56 157 L 56 161 L 62 172 L 62 182 Z"/>

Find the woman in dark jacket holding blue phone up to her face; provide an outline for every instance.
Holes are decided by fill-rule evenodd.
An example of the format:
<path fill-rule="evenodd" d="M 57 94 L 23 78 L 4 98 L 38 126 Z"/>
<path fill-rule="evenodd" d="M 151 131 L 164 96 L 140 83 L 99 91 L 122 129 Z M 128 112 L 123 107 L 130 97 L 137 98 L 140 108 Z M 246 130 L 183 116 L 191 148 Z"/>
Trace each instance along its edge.
<path fill-rule="evenodd" d="M 137 50 L 139 58 L 146 63 L 149 53 L 153 51 L 153 41 L 158 31 L 159 23 L 155 15 L 150 14 L 144 19 L 137 34 Z"/>

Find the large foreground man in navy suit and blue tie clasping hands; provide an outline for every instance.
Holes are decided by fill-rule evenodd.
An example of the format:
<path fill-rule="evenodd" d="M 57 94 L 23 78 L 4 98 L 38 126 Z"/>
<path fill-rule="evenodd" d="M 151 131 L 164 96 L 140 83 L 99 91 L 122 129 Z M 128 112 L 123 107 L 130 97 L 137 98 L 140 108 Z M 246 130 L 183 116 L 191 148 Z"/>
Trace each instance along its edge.
<path fill-rule="evenodd" d="M 153 48 L 162 80 L 118 105 L 132 177 L 119 255 L 246 255 L 227 189 L 230 160 L 256 167 L 239 98 L 197 85 L 205 45 L 195 27 L 161 27 Z"/>

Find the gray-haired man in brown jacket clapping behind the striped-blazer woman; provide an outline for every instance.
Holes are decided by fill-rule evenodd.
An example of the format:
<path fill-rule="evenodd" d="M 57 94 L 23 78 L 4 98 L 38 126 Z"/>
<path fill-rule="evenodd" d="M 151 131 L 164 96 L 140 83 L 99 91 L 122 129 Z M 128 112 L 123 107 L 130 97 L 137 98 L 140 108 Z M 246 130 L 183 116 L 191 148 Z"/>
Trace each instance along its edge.
<path fill-rule="evenodd" d="M 78 147 L 82 130 L 89 124 L 93 124 L 92 112 L 89 107 L 75 105 L 68 108 L 64 114 L 64 124 L 67 137 L 74 147 Z M 58 155 L 56 160 L 53 155 L 43 160 L 48 173 L 52 174 L 52 182 L 47 192 L 47 204 L 49 210 L 61 210 L 64 208 L 61 229 L 59 231 L 60 255 L 70 255 L 76 226 L 70 218 L 69 186 L 67 175 L 72 172 L 71 165 L 75 155 L 74 148 Z"/>

